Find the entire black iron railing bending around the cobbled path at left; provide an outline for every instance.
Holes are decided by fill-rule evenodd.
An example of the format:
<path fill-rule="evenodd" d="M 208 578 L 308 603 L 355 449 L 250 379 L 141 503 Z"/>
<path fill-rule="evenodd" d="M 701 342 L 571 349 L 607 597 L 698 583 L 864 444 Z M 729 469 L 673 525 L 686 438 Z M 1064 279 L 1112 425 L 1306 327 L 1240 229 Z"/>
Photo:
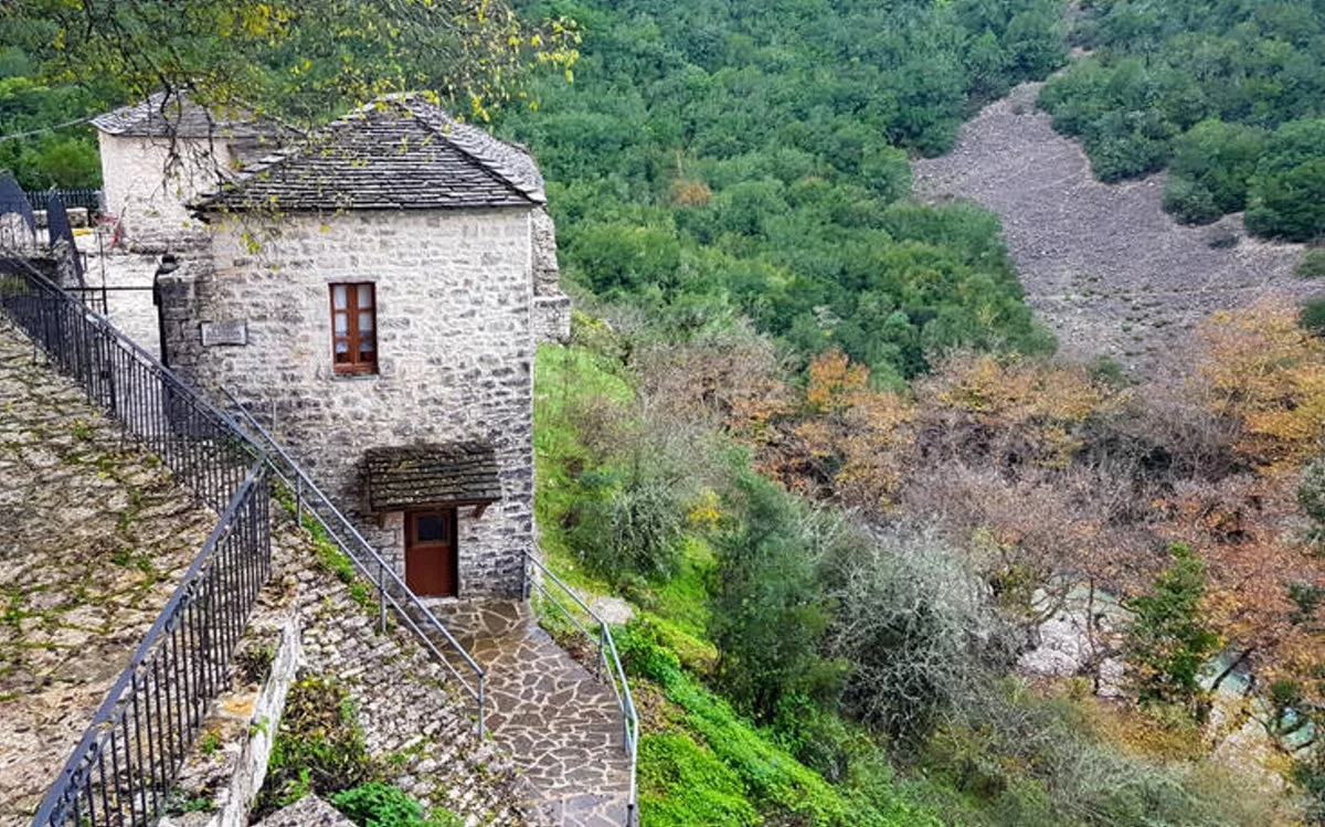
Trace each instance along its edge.
<path fill-rule="evenodd" d="M 266 465 L 228 416 L 23 258 L 0 256 L 0 311 L 118 420 L 122 440 L 142 441 L 220 514 L 33 820 L 148 824 L 270 573 Z"/>

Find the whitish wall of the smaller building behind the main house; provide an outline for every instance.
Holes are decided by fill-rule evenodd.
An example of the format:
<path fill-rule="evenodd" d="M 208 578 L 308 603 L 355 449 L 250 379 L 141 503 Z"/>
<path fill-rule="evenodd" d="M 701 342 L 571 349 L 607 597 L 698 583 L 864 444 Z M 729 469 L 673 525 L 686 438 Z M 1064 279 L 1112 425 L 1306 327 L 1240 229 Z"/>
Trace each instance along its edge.
<path fill-rule="evenodd" d="M 231 166 L 224 142 L 138 138 L 101 133 L 101 174 L 106 209 L 121 219 L 126 247 L 164 250 L 205 227 L 184 207 L 216 184 Z M 172 152 L 176 162 L 171 163 Z"/>

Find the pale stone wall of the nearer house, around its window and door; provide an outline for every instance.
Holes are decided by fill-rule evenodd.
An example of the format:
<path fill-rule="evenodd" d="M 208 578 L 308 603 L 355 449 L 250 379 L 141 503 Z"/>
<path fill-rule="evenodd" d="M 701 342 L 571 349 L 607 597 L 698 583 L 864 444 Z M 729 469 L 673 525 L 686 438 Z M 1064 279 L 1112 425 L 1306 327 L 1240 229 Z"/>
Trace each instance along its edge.
<path fill-rule="evenodd" d="M 221 221 L 223 219 L 217 219 Z M 404 571 L 401 514 L 362 513 L 360 460 L 378 445 L 486 440 L 502 501 L 461 509 L 460 595 L 518 596 L 533 550 L 533 253 L 527 209 L 286 216 L 250 253 L 219 229 L 211 260 L 163 277 L 170 362 L 260 417 L 364 535 Z M 330 282 L 371 281 L 375 375 L 331 368 Z M 201 322 L 246 345 L 201 345 Z"/>

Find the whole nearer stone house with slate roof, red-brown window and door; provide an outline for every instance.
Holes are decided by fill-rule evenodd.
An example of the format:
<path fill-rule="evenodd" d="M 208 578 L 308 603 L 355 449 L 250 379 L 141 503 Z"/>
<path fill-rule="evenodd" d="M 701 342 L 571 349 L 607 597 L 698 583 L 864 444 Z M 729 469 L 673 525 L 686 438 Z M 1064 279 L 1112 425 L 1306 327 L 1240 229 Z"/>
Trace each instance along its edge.
<path fill-rule="evenodd" d="M 417 594 L 517 598 L 534 351 L 570 330 L 545 201 L 523 148 L 382 98 L 191 204 L 163 358 L 270 419 Z"/>

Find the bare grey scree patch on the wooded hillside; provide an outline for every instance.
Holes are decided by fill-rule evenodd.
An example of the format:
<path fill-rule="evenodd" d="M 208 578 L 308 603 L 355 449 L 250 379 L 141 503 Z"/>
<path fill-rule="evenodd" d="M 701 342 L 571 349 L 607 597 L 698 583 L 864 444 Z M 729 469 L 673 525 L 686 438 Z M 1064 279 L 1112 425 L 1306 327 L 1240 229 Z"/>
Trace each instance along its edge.
<path fill-rule="evenodd" d="M 913 170 L 920 197 L 969 197 L 999 213 L 1027 298 L 1061 353 L 1153 372 L 1215 310 L 1325 290 L 1293 276 L 1301 247 L 1248 239 L 1242 216 L 1177 224 L 1163 212 L 1163 175 L 1094 180 L 1081 147 L 1036 109 L 1039 91 L 1019 86 L 963 126 L 951 152 Z M 1210 245 L 1230 232 L 1236 247 Z"/>

